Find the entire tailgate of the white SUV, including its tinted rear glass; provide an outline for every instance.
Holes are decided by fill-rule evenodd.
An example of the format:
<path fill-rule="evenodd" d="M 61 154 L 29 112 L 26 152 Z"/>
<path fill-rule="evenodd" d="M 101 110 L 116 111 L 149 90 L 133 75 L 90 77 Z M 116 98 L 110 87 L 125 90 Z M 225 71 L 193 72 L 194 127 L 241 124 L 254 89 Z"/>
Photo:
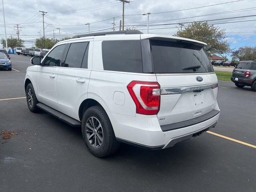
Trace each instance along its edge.
<path fill-rule="evenodd" d="M 218 80 L 204 44 L 150 40 L 160 84 L 160 125 L 197 118 L 214 110 Z"/>

